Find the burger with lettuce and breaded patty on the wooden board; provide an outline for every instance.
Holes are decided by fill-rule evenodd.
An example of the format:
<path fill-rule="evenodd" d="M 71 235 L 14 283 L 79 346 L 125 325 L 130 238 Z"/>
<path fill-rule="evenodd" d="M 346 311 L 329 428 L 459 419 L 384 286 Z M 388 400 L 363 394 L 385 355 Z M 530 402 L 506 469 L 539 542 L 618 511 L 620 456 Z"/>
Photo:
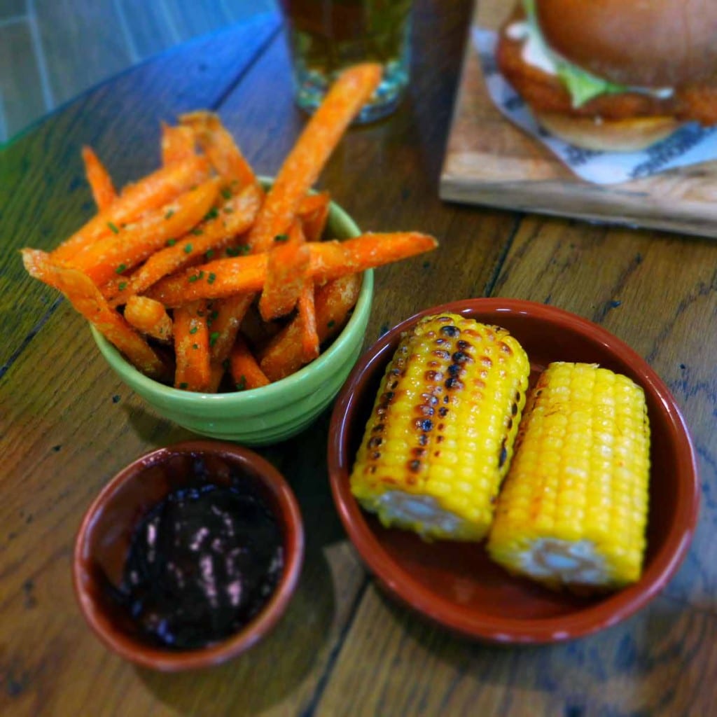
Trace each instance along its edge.
<path fill-rule="evenodd" d="M 497 62 L 538 123 L 579 147 L 637 151 L 717 124 L 717 0 L 522 0 Z"/>

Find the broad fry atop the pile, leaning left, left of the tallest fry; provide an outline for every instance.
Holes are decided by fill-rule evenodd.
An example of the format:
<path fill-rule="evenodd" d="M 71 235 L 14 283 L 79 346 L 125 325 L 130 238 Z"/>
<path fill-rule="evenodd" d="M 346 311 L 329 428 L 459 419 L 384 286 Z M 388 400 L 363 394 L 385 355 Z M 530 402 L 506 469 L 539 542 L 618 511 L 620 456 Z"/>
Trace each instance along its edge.
<path fill-rule="evenodd" d="M 219 115 L 206 111 L 191 112 L 181 115 L 179 122 L 191 129 L 217 174 L 227 180 L 227 184 L 236 182 L 239 188 L 247 184 L 259 186 L 254 170 Z"/>

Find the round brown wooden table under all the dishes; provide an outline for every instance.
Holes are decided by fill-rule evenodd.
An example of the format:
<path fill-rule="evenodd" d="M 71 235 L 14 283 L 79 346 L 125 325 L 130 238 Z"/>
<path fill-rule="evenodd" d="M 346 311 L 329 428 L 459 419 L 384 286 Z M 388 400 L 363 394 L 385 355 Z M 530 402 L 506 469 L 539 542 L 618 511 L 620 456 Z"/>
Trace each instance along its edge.
<path fill-rule="evenodd" d="M 138 670 L 85 625 L 72 592 L 75 531 L 136 455 L 189 435 L 118 382 L 84 321 L 24 274 L 92 213 L 80 146 L 117 184 L 158 165 L 158 123 L 217 110 L 257 172 L 274 174 L 305 118 L 290 98 L 276 16 L 121 75 L 0 156 L 0 713 L 6 715 L 715 714 L 717 244 L 713 240 L 446 204 L 438 177 L 472 1 L 419 0 L 402 108 L 352 130 L 320 184 L 366 230 L 421 229 L 442 246 L 376 272 L 366 343 L 419 308 L 478 296 L 551 303 L 602 324 L 654 366 L 698 450 L 703 504 L 690 554 L 649 607 L 554 647 L 454 637 L 376 589 L 333 509 L 328 415 L 262 452 L 300 499 L 308 554 L 272 635 L 203 673 Z"/>

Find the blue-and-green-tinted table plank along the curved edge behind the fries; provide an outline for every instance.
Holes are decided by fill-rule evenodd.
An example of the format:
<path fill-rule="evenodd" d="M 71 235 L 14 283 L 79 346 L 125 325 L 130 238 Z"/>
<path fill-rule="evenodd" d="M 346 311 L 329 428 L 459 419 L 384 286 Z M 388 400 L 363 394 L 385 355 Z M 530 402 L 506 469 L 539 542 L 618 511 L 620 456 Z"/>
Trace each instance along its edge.
<path fill-rule="evenodd" d="M 267 16 L 195 40 L 184 51 L 170 51 L 80 98 L 4 151 L 0 315 L 6 336 L 13 338 L 0 347 L 0 376 L 42 325 L 56 297 L 27 276 L 18 250 L 55 247 L 94 212 L 82 145 L 95 148 L 117 186 L 147 174 L 159 163 L 160 121 L 214 108 L 277 27 L 275 16 Z M 125 114 L 128 104 L 134 109 Z M 137 146 L 143 151 L 130 150 Z"/>

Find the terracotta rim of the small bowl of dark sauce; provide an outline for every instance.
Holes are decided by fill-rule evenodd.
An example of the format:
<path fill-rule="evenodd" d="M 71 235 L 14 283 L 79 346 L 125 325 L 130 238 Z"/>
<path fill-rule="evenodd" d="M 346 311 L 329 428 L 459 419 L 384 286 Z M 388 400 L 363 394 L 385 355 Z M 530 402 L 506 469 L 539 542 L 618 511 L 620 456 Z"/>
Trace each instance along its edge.
<path fill-rule="evenodd" d="M 280 519 L 285 539 L 284 571 L 269 602 L 257 617 L 239 632 L 221 642 L 196 650 L 162 650 L 161 647 L 153 647 L 130 635 L 125 635 L 119 630 L 111 629 L 111 621 L 104 617 L 103 610 L 98 607 L 95 599 L 82 585 L 82 576 L 86 573 L 84 566 L 87 562 L 87 538 L 98 511 L 108 505 L 120 486 L 130 480 L 136 480 L 144 468 L 156 465 L 170 455 L 192 452 L 232 455 L 239 460 L 240 464 L 250 469 L 252 478 L 270 490 L 278 508 L 273 512 Z M 185 440 L 139 455 L 116 473 L 92 500 L 89 508 L 85 511 L 75 538 L 72 582 L 77 602 L 88 625 L 104 645 L 120 657 L 141 667 L 163 672 L 206 668 L 224 663 L 249 650 L 275 626 L 288 607 L 298 585 L 303 566 L 304 543 L 303 520 L 298 500 L 277 468 L 258 453 L 236 443 L 212 439 Z"/>

